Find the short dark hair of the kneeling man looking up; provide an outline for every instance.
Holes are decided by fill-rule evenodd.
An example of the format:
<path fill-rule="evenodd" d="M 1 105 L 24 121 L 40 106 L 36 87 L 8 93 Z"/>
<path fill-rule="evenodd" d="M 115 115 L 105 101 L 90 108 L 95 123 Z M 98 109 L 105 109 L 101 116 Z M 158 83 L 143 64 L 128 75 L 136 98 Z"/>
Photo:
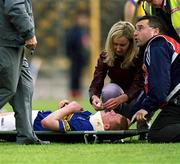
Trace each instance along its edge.
<path fill-rule="evenodd" d="M 139 17 L 136 20 L 136 23 L 139 21 L 142 21 L 142 20 L 149 20 L 149 26 L 153 27 L 153 28 L 159 28 L 159 31 L 161 34 L 167 33 L 166 26 L 165 26 L 164 22 L 161 20 L 161 18 L 159 18 L 157 16 L 145 15 L 145 16 Z"/>

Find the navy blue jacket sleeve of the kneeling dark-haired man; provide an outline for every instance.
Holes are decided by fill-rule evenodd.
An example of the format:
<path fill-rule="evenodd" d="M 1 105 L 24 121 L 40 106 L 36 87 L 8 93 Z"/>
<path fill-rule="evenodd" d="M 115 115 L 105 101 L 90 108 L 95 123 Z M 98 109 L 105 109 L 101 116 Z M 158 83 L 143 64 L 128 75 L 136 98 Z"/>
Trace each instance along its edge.
<path fill-rule="evenodd" d="M 148 93 L 142 102 L 142 108 L 155 111 L 166 101 L 169 93 L 171 53 L 164 39 L 155 41 L 149 48 L 150 55 L 145 61 L 148 70 Z"/>

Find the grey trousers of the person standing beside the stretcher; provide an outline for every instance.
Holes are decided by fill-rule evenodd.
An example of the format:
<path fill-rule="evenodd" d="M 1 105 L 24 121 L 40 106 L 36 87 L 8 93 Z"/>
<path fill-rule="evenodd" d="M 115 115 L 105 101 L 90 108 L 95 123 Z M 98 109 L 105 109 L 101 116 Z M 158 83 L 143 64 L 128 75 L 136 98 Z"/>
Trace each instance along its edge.
<path fill-rule="evenodd" d="M 32 129 L 32 95 L 33 81 L 24 59 L 24 47 L 0 47 L 0 108 L 11 104 L 19 144 L 38 140 Z"/>

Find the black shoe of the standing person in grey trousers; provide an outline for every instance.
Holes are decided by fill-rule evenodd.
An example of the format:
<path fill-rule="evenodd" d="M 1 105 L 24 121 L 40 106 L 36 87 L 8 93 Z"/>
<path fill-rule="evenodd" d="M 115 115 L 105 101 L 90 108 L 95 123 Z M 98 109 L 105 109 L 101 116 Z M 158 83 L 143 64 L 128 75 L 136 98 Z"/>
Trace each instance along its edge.
<path fill-rule="evenodd" d="M 25 140 L 25 141 L 16 141 L 19 145 L 48 145 L 50 141 L 42 141 L 40 139 L 37 140 Z"/>

